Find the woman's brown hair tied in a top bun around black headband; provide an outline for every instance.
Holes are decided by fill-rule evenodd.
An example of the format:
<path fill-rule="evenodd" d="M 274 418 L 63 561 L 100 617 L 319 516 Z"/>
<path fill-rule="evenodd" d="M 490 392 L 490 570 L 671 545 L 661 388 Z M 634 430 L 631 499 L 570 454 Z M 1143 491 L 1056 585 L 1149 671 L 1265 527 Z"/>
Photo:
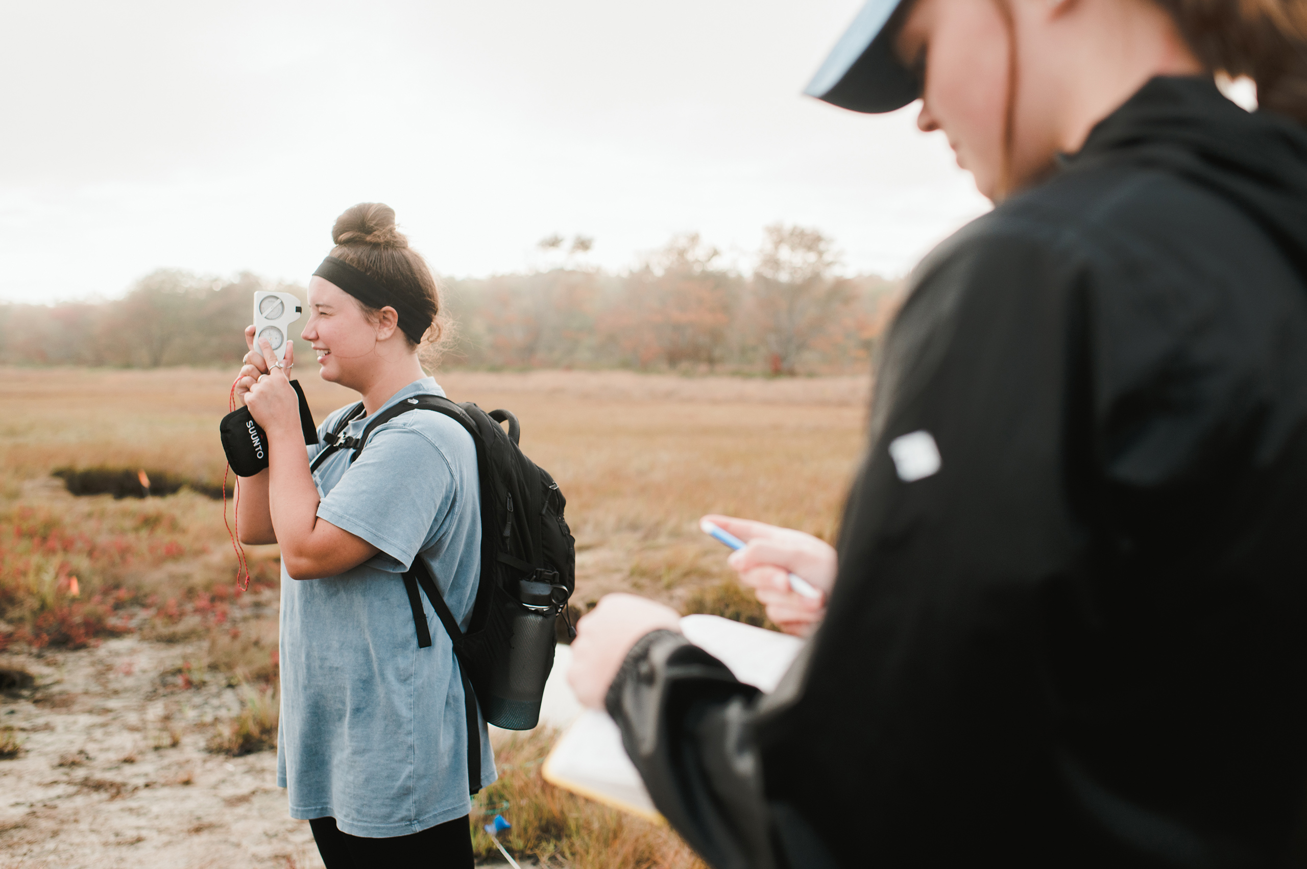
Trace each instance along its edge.
<path fill-rule="evenodd" d="M 408 239 L 395 226 L 395 209 L 382 203 L 359 203 L 336 218 L 331 230 L 336 242 L 331 255 L 367 274 L 396 301 L 399 310 L 413 311 L 420 323 L 430 323 L 429 344 L 440 340 L 440 290 L 431 277 L 422 255 L 408 246 Z M 362 304 L 370 315 L 378 308 Z M 405 333 L 409 346 L 418 346 Z"/>

